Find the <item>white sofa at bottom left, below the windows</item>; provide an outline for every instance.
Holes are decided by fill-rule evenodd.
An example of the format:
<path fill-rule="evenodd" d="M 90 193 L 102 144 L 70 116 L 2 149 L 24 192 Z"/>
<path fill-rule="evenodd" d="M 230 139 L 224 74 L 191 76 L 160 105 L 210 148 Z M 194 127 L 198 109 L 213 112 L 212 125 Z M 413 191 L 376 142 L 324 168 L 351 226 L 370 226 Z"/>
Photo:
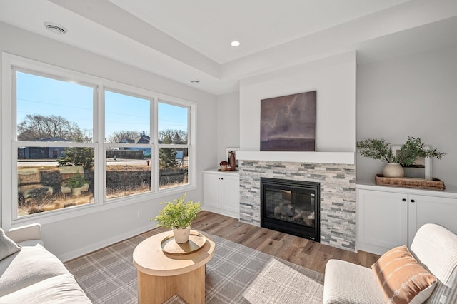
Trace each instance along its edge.
<path fill-rule="evenodd" d="M 0 233 L 4 236 L 3 230 Z M 0 260 L 0 303 L 91 303 L 64 264 L 44 248 L 39 224 L 5 234 L 2 255 L 9 254 L 8 244 L 21 248 Z"/>

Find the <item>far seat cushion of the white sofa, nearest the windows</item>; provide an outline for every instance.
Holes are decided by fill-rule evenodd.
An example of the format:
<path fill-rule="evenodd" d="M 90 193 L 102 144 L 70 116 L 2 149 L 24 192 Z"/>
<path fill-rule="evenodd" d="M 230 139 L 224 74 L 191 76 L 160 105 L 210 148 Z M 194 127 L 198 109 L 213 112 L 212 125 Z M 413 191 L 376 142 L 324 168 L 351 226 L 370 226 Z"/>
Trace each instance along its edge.
<path fill-rule="evenodd" d="M 0 297 L 64 273 L 64 264 L 43 246 L 24 246 L 0 261 Z"/>

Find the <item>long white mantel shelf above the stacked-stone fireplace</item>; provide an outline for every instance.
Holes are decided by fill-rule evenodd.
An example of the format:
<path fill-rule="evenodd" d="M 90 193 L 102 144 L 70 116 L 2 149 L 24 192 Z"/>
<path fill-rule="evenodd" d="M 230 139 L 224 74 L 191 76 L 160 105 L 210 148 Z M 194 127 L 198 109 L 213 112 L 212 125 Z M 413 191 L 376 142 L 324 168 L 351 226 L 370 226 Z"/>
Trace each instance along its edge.
<path fill-rule="evenodd" d="M 355 163 L 354 152 L 236 151 L 242 161 L 291 161 L 298 163 Z"/>

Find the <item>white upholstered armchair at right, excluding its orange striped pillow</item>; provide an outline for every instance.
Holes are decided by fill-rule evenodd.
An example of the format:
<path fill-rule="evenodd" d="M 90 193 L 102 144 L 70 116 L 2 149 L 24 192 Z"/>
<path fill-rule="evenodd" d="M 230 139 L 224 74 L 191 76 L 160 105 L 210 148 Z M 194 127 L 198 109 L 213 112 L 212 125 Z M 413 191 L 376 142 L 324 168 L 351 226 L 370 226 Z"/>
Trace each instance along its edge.
<path fill-rule="evenodd" d="M 424 303 L 456 304 L 457 235 L 442 226 L 426 224 L 417 231 L 409 251 L 423 268 L 436 277 L 433 292 Z M 387 302 L 371 268 L 342 260 L 329 260 L 324 279 L 323 303 Z"/>

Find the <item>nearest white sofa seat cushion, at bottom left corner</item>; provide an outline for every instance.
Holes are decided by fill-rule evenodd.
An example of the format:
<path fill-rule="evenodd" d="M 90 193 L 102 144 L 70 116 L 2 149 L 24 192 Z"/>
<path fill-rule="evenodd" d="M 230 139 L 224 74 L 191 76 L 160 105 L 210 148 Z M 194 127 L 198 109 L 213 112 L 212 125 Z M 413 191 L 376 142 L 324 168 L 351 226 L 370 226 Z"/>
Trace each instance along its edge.
<path fill-rule="evenodd" d="M 56 275 L 0 297 L 0 303 L 91 303 L 71 273 Z"/>

